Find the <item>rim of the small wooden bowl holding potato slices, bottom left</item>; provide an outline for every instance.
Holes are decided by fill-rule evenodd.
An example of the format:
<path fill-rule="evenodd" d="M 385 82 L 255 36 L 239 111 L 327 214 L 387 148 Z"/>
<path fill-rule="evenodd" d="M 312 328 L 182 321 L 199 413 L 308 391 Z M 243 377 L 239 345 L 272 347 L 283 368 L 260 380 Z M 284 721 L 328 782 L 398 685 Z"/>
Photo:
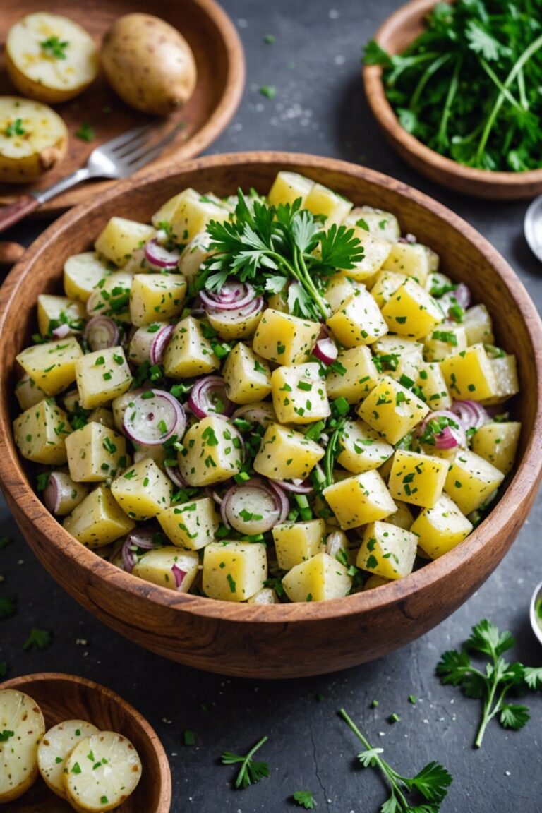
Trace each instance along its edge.
<path fill-rule="evenodd" d="M 156 782 L 158 780 L 160 782 L 160 798 L 158 806 L 152 811 L 147 811 L 147 813 L 169 813 L 171 807 L 171 768 L 169 767 L 169 760 L 167 759 L 166 751 L 158 734 L 154 731 L 150 723 L 145 720 L 141 712 L 137 711 L 131 703 L 121 698 L 120 695 L 112 689 L 108 689 L 107 686 L 96 683 L 94 680 L 88 680 L 86 677 L 68 675 L 64 672 L 33 672 L 30 675 L 12 677 L 10 680 L 4 680 L 0 683 L 0 691 L 3 689 L 18 689 L 21 692 L 28 693 L 30 697 L 32 697 L 32 689 L 28 688 L 28 684 L 45 681 L 52 683 L 58 682 L 59 685 L 63 683 L 83 685 L 87 689 L 100 694 L 102 698 L 105 698 L 106 703 L 114 703 L 116 706 L 120 706 L 126 714 L 134 720 L 137 727 L 141 728 L 141 731 L 143 731 L 148 738 L 158 762 L 158 776 L 155 776 L 153 781 Z M 121 733 L 122 732 L 119 732 L 119 734 Z"/>

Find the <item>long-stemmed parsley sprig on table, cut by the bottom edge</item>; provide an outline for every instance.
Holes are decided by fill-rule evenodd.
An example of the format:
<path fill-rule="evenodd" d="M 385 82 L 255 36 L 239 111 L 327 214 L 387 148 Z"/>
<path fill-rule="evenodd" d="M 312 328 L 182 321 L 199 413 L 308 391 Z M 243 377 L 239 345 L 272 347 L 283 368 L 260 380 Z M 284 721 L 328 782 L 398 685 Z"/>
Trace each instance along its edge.
<path fill-rule="evenodd" d="M 380 808 L 381 813 L 437 813 L 440 810 L 440 802 L 443 801 L 452 783 L 452 776 L 445 767 L 430 762 L 412 778 L 401 776 L 382 758 L 384 749 L 371 746 L 345 709 L 340 709 L 339 715 L 366 748 L 358 754 L 362 766 L 378 769 L 389 785 L 390 796 Z M 410 804 L 406 794 L 416 791 L 429 804 Z"/>

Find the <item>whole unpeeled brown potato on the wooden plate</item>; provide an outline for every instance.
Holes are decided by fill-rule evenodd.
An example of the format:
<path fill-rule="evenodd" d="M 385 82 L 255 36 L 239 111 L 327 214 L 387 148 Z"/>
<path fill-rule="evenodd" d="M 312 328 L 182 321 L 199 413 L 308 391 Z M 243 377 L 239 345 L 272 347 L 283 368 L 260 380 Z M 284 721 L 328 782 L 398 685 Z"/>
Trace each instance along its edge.
<path fill-rule="evenodd" d="M 115 20 L 103 38 L 102 66 L 120 98 L 143 113 L 177 110 L 196 86 L 196 62 L 188 42 L 150 14 Z"/>

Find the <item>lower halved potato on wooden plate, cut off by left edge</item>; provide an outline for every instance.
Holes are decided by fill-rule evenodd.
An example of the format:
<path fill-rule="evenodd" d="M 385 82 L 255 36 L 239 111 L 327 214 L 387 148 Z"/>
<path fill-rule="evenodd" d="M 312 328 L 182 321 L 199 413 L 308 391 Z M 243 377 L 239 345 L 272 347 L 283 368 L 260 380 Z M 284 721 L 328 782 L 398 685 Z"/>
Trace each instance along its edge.
<path fill-rule="evenodd" d="M 0 96 L 0 182 L 28 184 L 54 167 L 67 148 L 67 128 L 41 102 Z"/>

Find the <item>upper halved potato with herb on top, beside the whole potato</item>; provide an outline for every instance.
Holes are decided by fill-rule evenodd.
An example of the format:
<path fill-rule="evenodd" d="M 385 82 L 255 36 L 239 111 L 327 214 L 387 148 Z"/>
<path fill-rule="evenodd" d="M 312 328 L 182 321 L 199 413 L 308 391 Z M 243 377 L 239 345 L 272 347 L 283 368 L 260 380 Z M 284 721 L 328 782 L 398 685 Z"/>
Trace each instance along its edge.
<path fill-rule="evenodd" d="M 6 67 L 28 98 L 57 104 L 82 93 L 98 74 L 98 48 L 80 25 L 58 14 L 27 14 L 7 33 Z"/>

